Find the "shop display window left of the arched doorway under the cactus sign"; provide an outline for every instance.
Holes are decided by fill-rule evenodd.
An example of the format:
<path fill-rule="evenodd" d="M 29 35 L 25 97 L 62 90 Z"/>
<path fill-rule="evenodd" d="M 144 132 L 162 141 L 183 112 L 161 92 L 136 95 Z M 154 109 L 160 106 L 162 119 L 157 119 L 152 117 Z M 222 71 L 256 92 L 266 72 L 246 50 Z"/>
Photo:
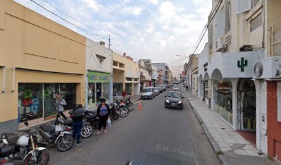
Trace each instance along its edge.
<path fill-rule="evenodd" d="M 232 124 L 231 80 L 214 80 L 214 111 Z"/>

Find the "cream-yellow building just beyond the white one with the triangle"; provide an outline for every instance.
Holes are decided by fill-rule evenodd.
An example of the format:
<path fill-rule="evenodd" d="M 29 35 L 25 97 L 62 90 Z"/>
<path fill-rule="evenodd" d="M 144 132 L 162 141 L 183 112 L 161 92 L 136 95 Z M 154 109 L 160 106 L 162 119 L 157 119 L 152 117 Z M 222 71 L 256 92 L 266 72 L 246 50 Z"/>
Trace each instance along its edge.
<path fill-rule="evenodd" d="M 125 90 L 127 95 L 139 93 L 139 68 L 132 58 L 113 52 L 113 95 L 119 96 Z"/>

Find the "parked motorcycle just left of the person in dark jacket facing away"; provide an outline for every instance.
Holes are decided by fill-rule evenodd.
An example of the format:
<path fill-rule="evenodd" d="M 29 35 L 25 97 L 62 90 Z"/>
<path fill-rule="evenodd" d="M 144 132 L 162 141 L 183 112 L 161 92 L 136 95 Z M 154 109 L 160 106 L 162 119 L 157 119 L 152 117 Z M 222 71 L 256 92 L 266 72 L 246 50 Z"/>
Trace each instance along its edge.
<path fill-rule="evenodd" d="M 37 142 L 43 145 L 54 145 L 59 151 L 68 151 L 74 144 L 71 127 L 71 120 L 61 120 L 56 115 L 54 125 L 41 125 L 37 128 Z"/>

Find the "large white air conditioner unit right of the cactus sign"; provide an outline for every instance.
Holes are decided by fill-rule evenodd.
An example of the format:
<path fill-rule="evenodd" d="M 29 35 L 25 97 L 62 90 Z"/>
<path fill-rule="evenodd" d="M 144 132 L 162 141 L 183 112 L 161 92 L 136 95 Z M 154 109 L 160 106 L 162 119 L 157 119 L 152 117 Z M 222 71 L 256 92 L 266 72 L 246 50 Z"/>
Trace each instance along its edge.
<path fill-rule="evenodd" d="M 253 64 L 254 79 L 280 79 L 281 57 L 269 57 Z"/>

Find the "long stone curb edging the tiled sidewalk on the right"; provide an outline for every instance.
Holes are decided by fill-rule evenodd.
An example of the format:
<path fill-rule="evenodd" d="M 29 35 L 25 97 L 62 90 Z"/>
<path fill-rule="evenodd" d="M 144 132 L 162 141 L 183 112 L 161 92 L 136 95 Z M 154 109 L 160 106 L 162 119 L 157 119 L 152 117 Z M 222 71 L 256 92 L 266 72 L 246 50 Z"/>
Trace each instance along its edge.
<path fill-rule="evenodd" d="M 186 95 L 185 95 L 186 96 Z M 218 157 L 218 159 L 220 160 L 220 163 L 223 165 L 227 165 L 227 161 L 225 159 L 225 155 L 221 154 L 222 151 L 220 150 L 220 147 L 218 146 L 218 144 L 216 143 L 216 141 L 214 140 L 214 138 L 211 136 L 211 133 L 209 132 L 209 130 L 207 129 L 207 126 L 204 124 L 202 118 L 200 117 L 200 115 L 198 114 L 198 112 L 196 111 L 196 109 L 192 106 L 190 100 L 187 99 L 187 102 L 189 103 L 191 109 L 194 111 L 196 117 L 198 118 L 202 129 L 205 133 L 205 135 L 207 136 L 209 142 L 211 143 L 211 147 L 214 149 L 216 156 Z"/>

